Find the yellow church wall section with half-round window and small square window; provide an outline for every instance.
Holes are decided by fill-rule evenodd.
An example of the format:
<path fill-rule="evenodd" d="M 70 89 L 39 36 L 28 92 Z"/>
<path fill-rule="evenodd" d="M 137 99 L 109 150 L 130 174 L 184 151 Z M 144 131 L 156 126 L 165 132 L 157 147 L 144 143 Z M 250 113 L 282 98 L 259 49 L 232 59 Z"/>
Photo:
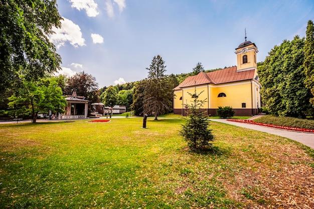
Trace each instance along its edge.
<path fill-rule="evenodd" d="M 217 109 L 219 106 L 231 106 L 238 109 L 242 108 L 242 103 L 246 103 L 245 108 L 252 108 L 251 84 L 247 82 L 245 84 L 236 84 L 210 85 L 210 108 Z M 218 97 L 219 93 L 225 93 L 226 97 Z"/>

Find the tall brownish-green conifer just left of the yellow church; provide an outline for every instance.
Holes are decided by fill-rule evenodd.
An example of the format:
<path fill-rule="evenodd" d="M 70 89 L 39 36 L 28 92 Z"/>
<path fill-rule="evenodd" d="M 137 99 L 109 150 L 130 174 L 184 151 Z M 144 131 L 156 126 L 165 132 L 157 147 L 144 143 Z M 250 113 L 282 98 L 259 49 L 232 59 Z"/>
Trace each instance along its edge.
<path fill-rule="evenodd" d="M 160 114 L 171 109 L 173 86 L 165 75 L 166 65 L 160 55 L 154 56 L 146 69 L 148 70 L 148 77 L 143 81 L 143 110 L 146 114 L 153 114 L 154 119 L 158 120 Z"/>

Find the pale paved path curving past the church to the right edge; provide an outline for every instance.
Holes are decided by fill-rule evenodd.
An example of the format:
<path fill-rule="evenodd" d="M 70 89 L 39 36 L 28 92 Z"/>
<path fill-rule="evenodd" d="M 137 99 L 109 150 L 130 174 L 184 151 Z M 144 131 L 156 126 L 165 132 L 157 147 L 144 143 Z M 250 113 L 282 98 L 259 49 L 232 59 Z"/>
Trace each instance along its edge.
<path fill-rule="evenodd" d="M 210 119 L 210 120 L 286 137 L 286 138 L 298 141 L 314 149 L 314 133 L 304 133 L 304 132 L 288 131 L 288 130 L 283 130 L 283 129 L 278 129 L 278 128 L 269 128 L 265 126 L 254 125 L 254 124 L 227 121 L 227 119 Z"/>

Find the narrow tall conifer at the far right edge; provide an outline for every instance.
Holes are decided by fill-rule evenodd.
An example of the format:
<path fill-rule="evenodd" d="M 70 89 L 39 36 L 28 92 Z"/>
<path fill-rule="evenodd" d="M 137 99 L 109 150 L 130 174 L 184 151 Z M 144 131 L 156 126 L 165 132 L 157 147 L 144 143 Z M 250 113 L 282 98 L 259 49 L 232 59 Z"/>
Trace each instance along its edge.
<path fill-rule="evenodd" d="M 306 38 L 304 44 L 304 70 L 306 76 L 304 83 L 312 94 L 310 103 L 312 104 L 312 107 L 314 107 L 314 25 L 311 20 L 308 21 L 306 28 Z"/>

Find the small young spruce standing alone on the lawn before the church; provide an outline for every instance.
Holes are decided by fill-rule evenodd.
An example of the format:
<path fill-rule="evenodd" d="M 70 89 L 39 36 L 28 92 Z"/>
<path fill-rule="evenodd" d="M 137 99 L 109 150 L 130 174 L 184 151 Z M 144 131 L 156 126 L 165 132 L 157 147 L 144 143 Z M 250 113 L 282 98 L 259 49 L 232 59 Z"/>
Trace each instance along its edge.
<path fill-rule="evenodd" d="M 212 147 L 214 136 L 212 130 L 208 128 L 209 118 L 200 109 L 206 100 L 199 100 L 199 95 L 196 94 L 193 98 L 193 103 L 187 105 L 188 116 L 185 124 L 182 125 L 180 135 L 188 142 L 188 146 L 193 151 L 207 150 Z M 189 93 L 191 96 L 194 94 Z"/>

